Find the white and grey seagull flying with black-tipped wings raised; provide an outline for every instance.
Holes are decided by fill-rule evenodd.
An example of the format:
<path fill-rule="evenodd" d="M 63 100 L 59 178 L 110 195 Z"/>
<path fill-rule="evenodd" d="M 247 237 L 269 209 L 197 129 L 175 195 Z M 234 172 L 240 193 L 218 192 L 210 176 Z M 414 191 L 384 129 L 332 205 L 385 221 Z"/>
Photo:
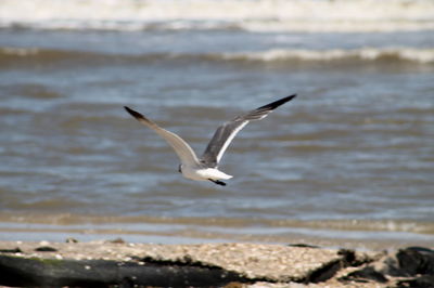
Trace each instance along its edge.
<path fill-rule="evenodd" d="M 201 158 L 197 158 L 190 145 L 177 134 L 161 128 L 155 122 L 127 106 L 124 106 L 124 108 L 139 122 L 154 130 L 175 149 L 175 153 L 181 160 L 178 171 L 182 173 L 184 178 L 195 181 L 209 180 L 217 185 L 225 186 L 226 183 L 221 180 L 229 180 L 232 175 L 228 175 L 218 170 L 218 163 L 237 133 L 250 121 L 264 119 L 277 107 L 291 101 L 295 96 L 296 94 L 293 94 L 280 99 L 225 122 L 217 128 Z"/>

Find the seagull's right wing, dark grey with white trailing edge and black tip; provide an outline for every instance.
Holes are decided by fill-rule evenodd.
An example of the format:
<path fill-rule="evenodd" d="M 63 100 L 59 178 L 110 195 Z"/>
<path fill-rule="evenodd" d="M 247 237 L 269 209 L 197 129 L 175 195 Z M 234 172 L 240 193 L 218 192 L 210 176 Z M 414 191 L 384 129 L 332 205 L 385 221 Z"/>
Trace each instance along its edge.
<path fill-rule="evenodd" d="M 237 133 L 244 128 L 244 126 L 246 126 L 250 121 L 264 119 L 273 109 L 291 101 L 295 96 L 296 94 L 260 106 L 259 108 L 238 116 L 217 128 L 213 139 L 209 141 L 208 146 L 201 157 L 201 161 L 205 162 L 208 167 L 217 167 L 218 162 L 224 156 L 225 150 L 228 148 Z"/>

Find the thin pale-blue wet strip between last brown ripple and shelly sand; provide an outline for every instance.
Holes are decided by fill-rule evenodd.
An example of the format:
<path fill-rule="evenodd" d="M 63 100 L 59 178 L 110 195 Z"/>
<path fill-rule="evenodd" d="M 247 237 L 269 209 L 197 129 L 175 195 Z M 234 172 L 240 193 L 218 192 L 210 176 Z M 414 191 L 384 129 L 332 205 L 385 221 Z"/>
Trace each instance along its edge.
<path fill-rule="evenodd" d="M 2 225 L 1 225 L 2 224 Z M 11 225 L 9 225 L 11 224 Z M 264 245 L 291 245 L 306 244 L 331 249 L 354 249 L 361 251 L 397 250 L 408 246 L 431 247 L 433 236 L 430 234 L 416 234 L 409 237 L 406 232 L 376 232 L 376 237 L 369 237 L 369 232 L 339 231 L 343 236 L 303 233 L 228 233 L 225 231 L 201 230 L 201 227 L 174 227 L 171 225 L 157 224 L 146 230 L 128 228 L 100 228 L 89 226 L 65 225 L 34 225 L 22 223 L 0 223 L 0 243 L 15 241 L 53 241 L 63 243 L 67 237 L 74 237 L 79 241 L 93 241 L 99 239 L 123 238 L 128 243 L 150 243 L 163 245 L 205 244 L 205 243 L 254 243 Z M 352 235 L 354 233 L 355 235 Z M 348 234 L 348 235 L 345 235 Z M 356 235 L 357 234 L 357 235 Z M 394 234 L 394 237 L 387 237 Z M 403 235 L 399 238 L 399 235 Z M 333 237 L 334 236 L 334 237 Z M 357 237 L 356 237 L 357 236 Z M 382 237 L 384 236 L 384 237 Z"/>

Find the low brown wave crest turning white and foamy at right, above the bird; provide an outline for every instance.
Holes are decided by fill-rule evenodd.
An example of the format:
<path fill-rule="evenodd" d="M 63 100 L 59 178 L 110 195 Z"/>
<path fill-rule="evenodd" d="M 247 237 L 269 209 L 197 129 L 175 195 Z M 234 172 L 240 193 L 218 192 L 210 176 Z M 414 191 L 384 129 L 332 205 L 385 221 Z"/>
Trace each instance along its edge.
<path fill-rule="evenodd" d="M 434 49 L 416 48 L 361 48 L 353 50 L 305 50 L 305 49 L 277 49 L 257 52 L 235 53 L 150 53 L 150 54 L 106 54 L 99 52 L 63 51 L 37 48 L 0 48 L 0 63 L 13 63 L 26 58 L 39 62 L 77 61 L 94 63 L 116 58 L 116 62 L 146 63 L 148 61 L 184 60 L 191 62 L 259 62 L 259 63 L 399 63 L 409 62 L 417 64 L 434 63 Z"/>

